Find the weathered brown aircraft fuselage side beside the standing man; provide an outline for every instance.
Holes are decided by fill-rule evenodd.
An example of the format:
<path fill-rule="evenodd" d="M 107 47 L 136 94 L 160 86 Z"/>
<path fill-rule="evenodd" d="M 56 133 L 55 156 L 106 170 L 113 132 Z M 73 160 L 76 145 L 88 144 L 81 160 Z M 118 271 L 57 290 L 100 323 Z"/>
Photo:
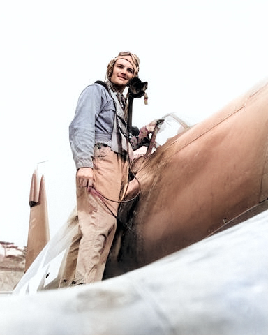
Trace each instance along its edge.
<path fill-rule="evenodd" d="M 168 140 L 137 172 L 121 205 L 105 278 L 204 239 L 268 198 L 268 84 Z M 137 193 L 132 182 L 127 198 Z"/>

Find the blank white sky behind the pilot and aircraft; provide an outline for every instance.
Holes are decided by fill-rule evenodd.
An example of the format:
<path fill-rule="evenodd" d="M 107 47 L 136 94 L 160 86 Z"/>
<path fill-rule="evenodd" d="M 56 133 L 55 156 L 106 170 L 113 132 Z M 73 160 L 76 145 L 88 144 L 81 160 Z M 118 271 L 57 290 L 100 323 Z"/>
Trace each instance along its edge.
<path fill-rule="evenodd" d="M 0 5 L 0 241 L 27 244 L 31 174 L 45 175 L 51 236 L 75 206 L 68 126 L 77 98 L 131 50 L 148 81 L 133 124 L 191 124 L 268 74 L 267 0 L 10 0 Z"/>

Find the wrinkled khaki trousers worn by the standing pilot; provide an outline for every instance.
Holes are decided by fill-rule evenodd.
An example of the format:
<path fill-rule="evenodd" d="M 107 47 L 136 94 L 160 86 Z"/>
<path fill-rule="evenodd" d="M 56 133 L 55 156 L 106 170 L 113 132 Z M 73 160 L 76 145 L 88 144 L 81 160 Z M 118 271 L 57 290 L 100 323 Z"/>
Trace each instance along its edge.
<path fill-rule="evenodd" d="M 60 286 L 68 285 L 71 281 L 94 283 L 103 278 L 105 263 L 117 228 L 117 200 L 121 198 L 124 186 L 122 181 L 125 179 L 125 158 L 104 144 L 96 144 L 94 187 L 90 192 L 87 188 L 76 187 L 79 226 L 68 251 Z"/>

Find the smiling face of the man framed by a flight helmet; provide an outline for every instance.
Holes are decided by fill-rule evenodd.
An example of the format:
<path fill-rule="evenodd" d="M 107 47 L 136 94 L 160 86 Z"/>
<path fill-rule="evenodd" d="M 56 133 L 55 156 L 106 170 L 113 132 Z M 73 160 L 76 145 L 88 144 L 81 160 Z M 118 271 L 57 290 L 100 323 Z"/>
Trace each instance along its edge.
<path fill-rule="evenodd" d="M 117 59 L 114 63 L 110 81 L 117 87 L 124 88 L 134 76 L 133 66 L 126 59 Z"/>

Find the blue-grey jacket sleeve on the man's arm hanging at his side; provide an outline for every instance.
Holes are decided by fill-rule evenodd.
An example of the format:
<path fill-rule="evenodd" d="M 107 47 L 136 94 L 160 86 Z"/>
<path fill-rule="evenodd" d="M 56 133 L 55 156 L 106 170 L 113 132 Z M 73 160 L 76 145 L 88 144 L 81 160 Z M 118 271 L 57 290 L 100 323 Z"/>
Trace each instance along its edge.
<path fill-rule="evenodd" d="M 93 168 L 95 121 L 100 110 L 101 89 L 90 85 L 80 94 L 69 126 L 70 148 L 77 169 Z"/>

